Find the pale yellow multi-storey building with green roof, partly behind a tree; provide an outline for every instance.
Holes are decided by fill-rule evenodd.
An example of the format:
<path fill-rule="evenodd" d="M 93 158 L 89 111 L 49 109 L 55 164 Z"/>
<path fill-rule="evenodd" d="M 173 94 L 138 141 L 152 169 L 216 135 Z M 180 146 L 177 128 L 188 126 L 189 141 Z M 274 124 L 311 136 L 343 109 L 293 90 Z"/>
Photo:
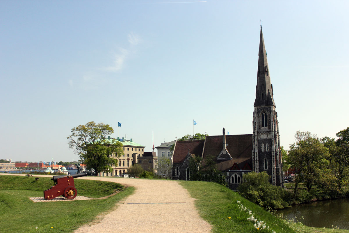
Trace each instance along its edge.
<path fill-rule="evenodd" d="M 132 165 L 136 164 L 138 161 L 138 156 L 143 156 L 144 153 L 144 147 L 141 144 L 135 143 L 132 138 L 130 140 L 126 140 L 125 138 L 112 138 L 108 136 L 106 139 L 107 141 L 111 141 L 113 139 L 118 140 L 120 143 L 122 143 L 122 150 L 124 151 L 124 155 L 121 155 L 120 158 L 118 158 L 117 155 L 115 155 L 115 158 L 118 160 L 118 166 L 112 167 L 113 172 L 103 172 L 98 173 L 98 176 L 119 176 L 119 175 L 125 175 L 129 172 L 129 169 Z"/>

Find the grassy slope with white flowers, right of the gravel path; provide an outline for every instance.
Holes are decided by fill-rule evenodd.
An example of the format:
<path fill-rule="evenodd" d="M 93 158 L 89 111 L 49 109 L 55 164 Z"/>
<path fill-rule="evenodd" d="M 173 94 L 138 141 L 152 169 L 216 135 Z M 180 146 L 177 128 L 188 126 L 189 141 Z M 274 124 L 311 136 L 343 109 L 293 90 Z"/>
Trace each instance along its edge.
<path fill-rule="evenodd" d="M 349 233 L 347 230 L 292 224 L 275 217 L 272 213 L 240 196 L 238 192 L 217 183 L 180 181 L 180 184 L 189 191 L 191 197 L 197 199 L 195 206 L 198 208 L 200 216 L 213 225 L 212 232 Z M 246 207 L 246 210 L 242 210 L 241 205 Z M 248 210 L 251 211 L 251 214 L 248 213 Z M 256 222 L 252 220 L 252 215 L 257 219 L 257 224 L 259 221 L 263 221 L 260 227 L 254 226 Z M 247 220 L 248 218 L 251 220 Z M 263 225 L 265 225 L 264 229 Z"/>

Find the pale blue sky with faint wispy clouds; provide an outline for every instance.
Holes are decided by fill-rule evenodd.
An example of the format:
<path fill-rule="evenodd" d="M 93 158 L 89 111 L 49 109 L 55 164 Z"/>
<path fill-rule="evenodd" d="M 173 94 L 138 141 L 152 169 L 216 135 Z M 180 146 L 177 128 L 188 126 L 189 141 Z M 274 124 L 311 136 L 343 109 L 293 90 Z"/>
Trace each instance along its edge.
<path fill-rule="evenodd" d="M 260 23 L 280 144 L 297 130 L 334 138 L 349 126 L 348 10 L 348 1 L 0 1 L 0 159 L 77 160 L 67 137 L 90 121 L 146 152 L 153 131 L 156 147 L 193 134 L 193 120 L 194 133 L 251 134 Z"/>

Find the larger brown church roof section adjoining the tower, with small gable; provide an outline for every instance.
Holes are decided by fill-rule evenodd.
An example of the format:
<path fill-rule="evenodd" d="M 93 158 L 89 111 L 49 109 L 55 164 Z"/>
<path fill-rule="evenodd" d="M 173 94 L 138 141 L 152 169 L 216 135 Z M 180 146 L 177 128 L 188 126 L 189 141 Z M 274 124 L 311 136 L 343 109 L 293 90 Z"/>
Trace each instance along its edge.
<path fill-rule="evenodd" d="M 222 151 L 223 136 L 207 136 L 205 149 L 203 152 L 202 165 L 205 166 L 205 160 L 213 156 L 217 162 L 217 168 L 221 171 L 228 171 L 237 163 L 240 169 L 243 169 L 246 163 L 252 168 L 252 134 L 226 135 L 225 141 L 228 144 L 227 150 L 232 159 L 217 160 Z"/>

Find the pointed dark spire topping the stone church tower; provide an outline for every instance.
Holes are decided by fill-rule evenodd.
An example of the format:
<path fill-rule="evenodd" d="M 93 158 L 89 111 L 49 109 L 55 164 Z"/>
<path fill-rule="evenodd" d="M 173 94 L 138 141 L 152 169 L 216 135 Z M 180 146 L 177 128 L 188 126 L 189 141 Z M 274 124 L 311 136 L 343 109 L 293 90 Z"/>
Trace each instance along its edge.
<path fill-rule="evenodd" d="M 263 32 L 261 26 L 261 34 L 259 40 L 259 52 L 258 52 L 258 70 L 257 70 L 257 86 L 256 86 L 256 99 L 254 101 L 254 107 L 274 105 L 273 98 L 273 85 L 270 82 L 269 66 L 267 61 L 267 51 L 265 50 Z"/>

